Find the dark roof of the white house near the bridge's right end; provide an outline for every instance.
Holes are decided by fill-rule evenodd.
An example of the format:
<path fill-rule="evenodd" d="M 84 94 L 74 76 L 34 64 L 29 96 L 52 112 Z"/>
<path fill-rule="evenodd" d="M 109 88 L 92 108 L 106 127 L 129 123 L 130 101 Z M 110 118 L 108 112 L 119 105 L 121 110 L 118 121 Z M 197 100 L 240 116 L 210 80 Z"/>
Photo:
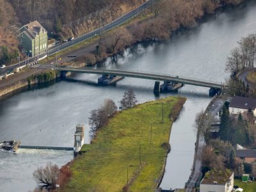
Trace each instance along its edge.
<path fill-rule="evenodd" d="M 230 101 L 229 107 L 254 110 L 256 108 L 256 99 L 252 97 L 235 96 Z"/>

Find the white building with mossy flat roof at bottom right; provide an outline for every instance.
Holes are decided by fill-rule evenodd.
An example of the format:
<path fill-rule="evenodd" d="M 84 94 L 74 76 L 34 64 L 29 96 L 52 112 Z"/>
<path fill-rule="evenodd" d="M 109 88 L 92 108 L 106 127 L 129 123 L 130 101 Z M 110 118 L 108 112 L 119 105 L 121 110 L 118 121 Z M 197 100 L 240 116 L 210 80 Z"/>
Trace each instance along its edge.
<path fill-rule="evenodd" d="M 211 170 L 200 182 L 200 192 L 231 192 L 234 187 L 234 172 Z"/>

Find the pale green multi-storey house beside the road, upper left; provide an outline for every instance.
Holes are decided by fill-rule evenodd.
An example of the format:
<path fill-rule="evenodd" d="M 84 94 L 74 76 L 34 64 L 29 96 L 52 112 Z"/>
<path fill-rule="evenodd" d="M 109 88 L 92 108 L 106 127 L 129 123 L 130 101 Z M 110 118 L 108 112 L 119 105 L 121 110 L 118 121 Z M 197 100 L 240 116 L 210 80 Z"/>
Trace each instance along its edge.
<path fill-rule="evenodd" d="M 47 31 L 37 20 L 22 26 L 19 31 L 20 48 L 26 56 L 35 57 L 47 52 Z"/>

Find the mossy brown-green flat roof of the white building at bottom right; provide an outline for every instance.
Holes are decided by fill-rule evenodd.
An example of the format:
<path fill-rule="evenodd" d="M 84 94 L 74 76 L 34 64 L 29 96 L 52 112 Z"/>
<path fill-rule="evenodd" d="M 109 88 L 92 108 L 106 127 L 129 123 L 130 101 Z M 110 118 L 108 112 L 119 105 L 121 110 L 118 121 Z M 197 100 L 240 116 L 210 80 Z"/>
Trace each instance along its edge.
<path fill-rule="evenodd" d="M 230 179 L 233 173 L 230 170 L 211 170 L 205 173 L 204 179 L 200 184 L 216 184 L 216 185 L 225 185 Z"/>

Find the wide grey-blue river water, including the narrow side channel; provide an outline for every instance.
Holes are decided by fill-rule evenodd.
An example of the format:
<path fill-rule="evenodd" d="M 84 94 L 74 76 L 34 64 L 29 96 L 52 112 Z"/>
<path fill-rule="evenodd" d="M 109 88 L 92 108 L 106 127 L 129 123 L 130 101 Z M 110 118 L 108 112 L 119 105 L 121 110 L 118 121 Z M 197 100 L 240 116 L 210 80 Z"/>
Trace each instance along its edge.
<path fill-rule="evenodd" d="M 234 10 L 204 19 L 189 31 L 174 35 L 168 44 L 138 46 L 127 51 L 116 64 L 107 68 L 143 70 L 177 76 L 224 82 L 228 77 L 225 61 L 242 36 L 256 33 L 256 2 L 248 1 Z M 20 140 L 22 145 L 72 147 L 76 124 L 86 125 L 86 143 L 90 143 L 88 117 L 104 99 L 118 101 L 133 88 L 140 103 L 154 100 L 154 81 L 125 78 L 116 86 L 97 86 L 99 76 L 77 74 L 81 81 L 60 81 L 32 89 L 0 101 L 0 140 Z M 209 89 L 184 86 L 179 95 L 188 100 L 173 124 L 161 187 L 183 188 L 193 164 L 196 136 L 195 115 L 205 109 L 211 98 Z M 161 94 L 167 97 L 175 94 Z M 46 163 L 59 166 L 73 158 L 72 152 L 20 149 L 17 154 L 0 151 L 0 191 L 29 191 L 36 186 L 33 171 Z"/>

